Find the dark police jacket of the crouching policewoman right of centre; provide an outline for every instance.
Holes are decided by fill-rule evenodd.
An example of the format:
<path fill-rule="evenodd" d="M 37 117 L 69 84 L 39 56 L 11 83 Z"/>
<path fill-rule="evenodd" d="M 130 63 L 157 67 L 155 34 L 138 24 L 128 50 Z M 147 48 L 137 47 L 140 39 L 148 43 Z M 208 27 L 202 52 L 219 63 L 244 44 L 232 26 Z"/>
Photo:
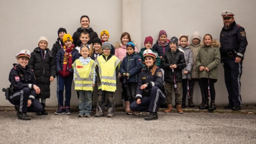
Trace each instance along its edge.
<path fill-rule="evenodd" d="M 144 67 L 139 76 L 139 81 L 138 81 L 138 86 L 136 90 L 136 97 L 135 100 L 138 98 L 142 98 L 150 96 L 150 91 L 153 86 L 158 87 L 163 93 L 164 93 L 164 81 L 163 81 L 163 73 L 160 70 L 159 67 L 156 67 L 156 72 L 154 75 L 151 74 L 150 70 L 152 69 L 153 66 L 151 67 Z M 140 87 L 141 85 L 147 83 L 148 87 L 144 90 L 141 90 Z"/>

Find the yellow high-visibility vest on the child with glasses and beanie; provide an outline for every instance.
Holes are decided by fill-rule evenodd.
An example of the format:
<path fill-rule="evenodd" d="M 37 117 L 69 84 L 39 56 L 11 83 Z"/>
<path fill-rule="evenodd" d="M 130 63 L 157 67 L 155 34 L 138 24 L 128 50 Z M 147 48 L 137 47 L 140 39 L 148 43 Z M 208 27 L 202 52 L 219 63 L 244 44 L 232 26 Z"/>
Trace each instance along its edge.
<path fill-rule="evenodd" d="M 96 63 L 99 67 L 100 85 L 98 90 L 116 91 L 116 67 L 120 68 L 121 60 L 116 56 L 112 56 L 106 61 L 103 56 L 99 56 L 96 59 Z"/>

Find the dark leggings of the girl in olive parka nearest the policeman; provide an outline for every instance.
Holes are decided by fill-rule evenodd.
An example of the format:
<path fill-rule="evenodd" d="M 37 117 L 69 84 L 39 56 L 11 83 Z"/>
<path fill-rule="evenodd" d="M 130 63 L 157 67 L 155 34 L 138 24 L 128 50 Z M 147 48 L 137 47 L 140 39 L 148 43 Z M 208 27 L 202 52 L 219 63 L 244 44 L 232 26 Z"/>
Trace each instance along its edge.
<path fill-rule="evenodd" d="M 204 83 L 204 97 L 205 99 L 208 98 L 208 78 L 201 78 L 202 82 Z M 211 100 L 215 100 L 215 89 L 214 89 L 214 83 L 217 82 L 216 79 L 209 79 L 209 85 L 210 85 L 210 96 Z"/>

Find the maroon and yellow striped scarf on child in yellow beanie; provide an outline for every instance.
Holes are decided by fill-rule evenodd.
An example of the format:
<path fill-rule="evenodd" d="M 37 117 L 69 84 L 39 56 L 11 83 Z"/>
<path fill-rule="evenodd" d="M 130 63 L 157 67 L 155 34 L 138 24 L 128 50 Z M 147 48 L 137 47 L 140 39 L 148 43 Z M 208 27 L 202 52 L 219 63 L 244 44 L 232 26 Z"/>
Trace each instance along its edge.
<path fill-rule="evenodd" d="M 72 67 L 72 50 L 75 47 L 75 45 L 72 44 L 71 47 L 67 48 L 66 46 L 63 47 L 63 50 L 65 52 L 63 57 L 63 71 L 66 72 L 67 69 Z"/>

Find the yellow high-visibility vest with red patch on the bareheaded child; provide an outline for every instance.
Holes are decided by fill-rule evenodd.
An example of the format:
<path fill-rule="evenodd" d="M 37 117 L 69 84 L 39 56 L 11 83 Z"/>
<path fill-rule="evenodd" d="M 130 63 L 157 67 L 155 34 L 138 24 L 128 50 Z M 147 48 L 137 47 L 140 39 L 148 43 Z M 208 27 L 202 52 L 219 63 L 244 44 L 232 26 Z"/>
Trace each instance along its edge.
<path fill-rule="evenodd" d="M 97 63 L 91 60 L 87 65 L 83 65 L 79 59 L 77 59 L 72 67 L 74 68 L 74 81 L 75 90 L 88 90 L 93 91 L 92 76 L 93 68 Z"/>

